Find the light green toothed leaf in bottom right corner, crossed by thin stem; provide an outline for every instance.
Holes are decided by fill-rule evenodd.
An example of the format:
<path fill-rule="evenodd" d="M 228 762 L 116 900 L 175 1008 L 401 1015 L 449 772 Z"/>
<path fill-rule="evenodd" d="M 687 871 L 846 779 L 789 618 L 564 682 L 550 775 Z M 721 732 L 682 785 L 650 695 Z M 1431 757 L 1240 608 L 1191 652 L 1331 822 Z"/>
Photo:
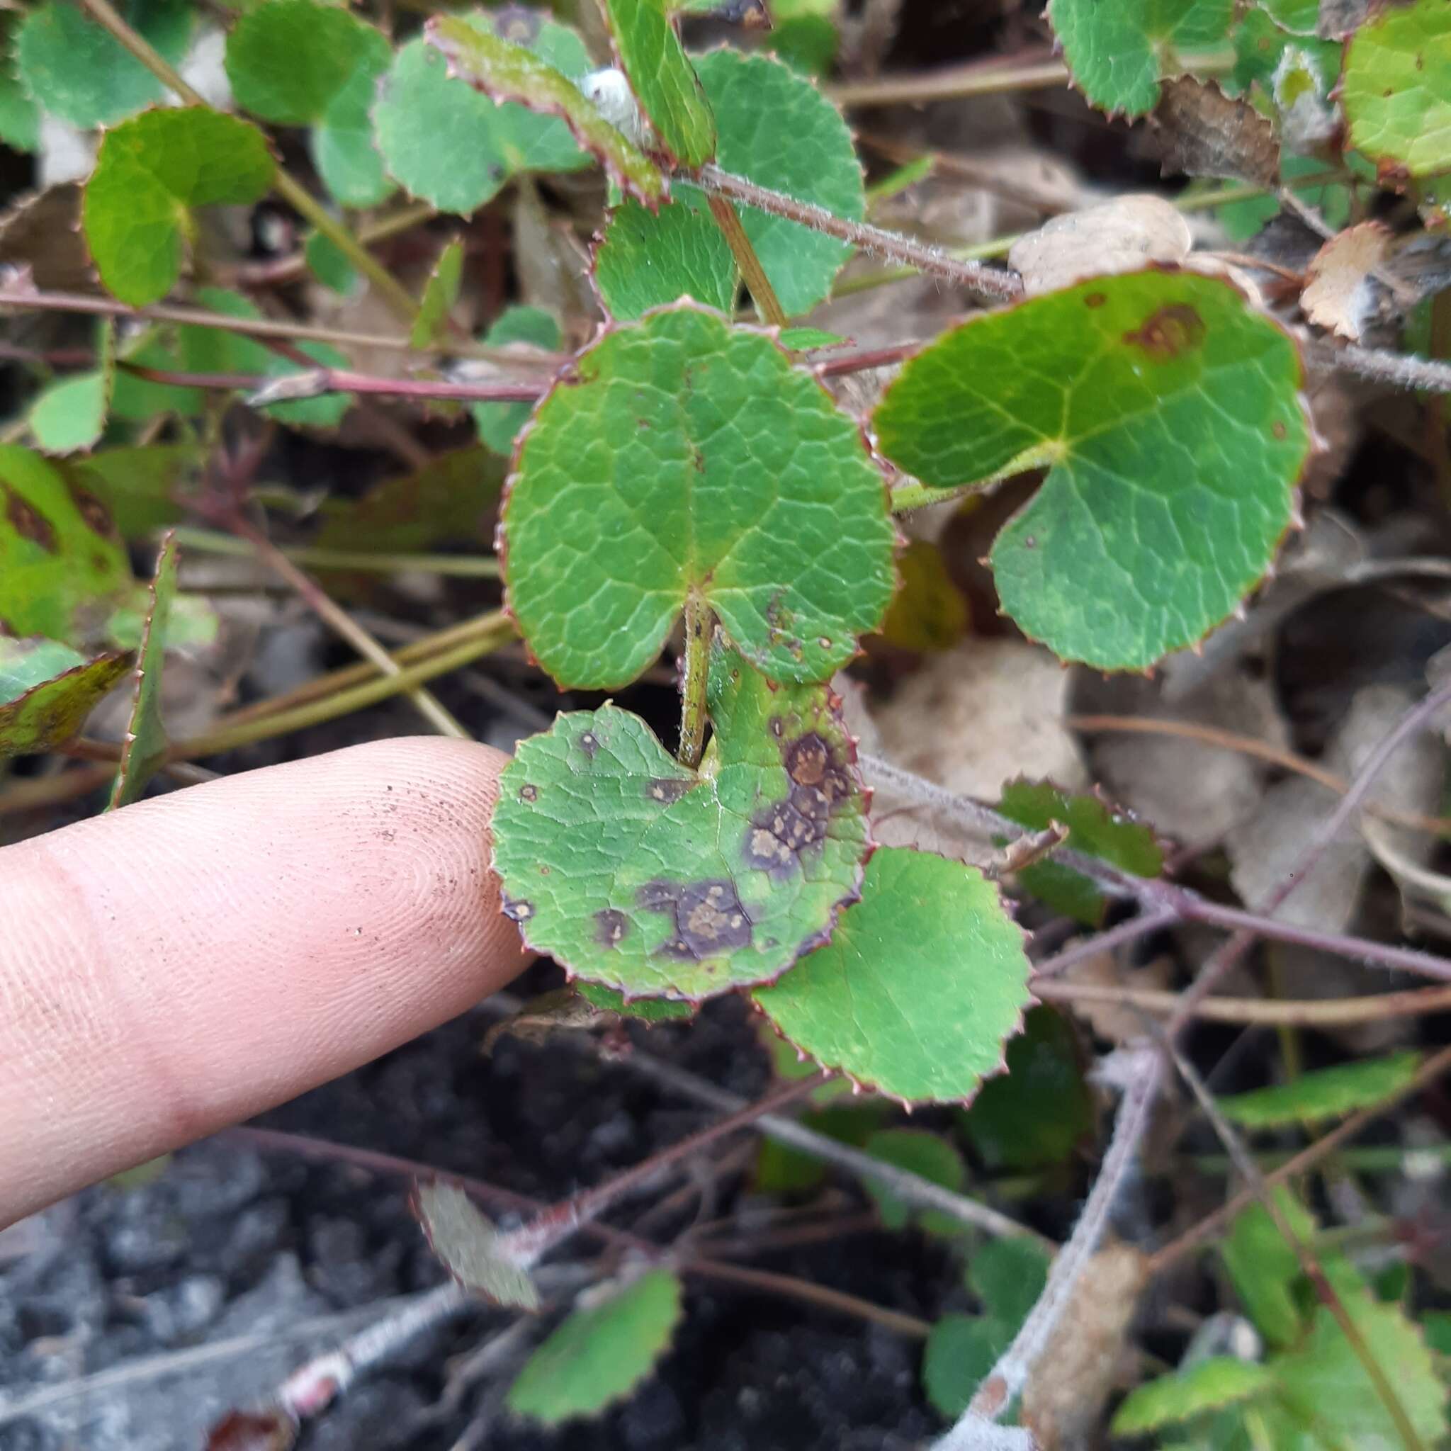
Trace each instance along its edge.
<path fill-rule="evenodd" d="M 1436 1376 L 1421 1332 L 1397 1306 L 1380 1304 L 1344 1261 L 1326 1261 L 1325 1274 L 1421 1444 L 1442 1445 L 1448 1429 L 1447 1386 Z M 1293 1439 L 1278 1441 L 1277 1451 L 1281 1445 L 1286 1451 L 1319 1451 L 1328 1442 L 1357 1451 L 1405 1445 L 1370 1373 L 1328 1306 L 1316 1306 L 1304 1342 L 1275 1357 L 1271 1368 L 1278 1396 L 1299 1412 L 1306 1428 Z"/>

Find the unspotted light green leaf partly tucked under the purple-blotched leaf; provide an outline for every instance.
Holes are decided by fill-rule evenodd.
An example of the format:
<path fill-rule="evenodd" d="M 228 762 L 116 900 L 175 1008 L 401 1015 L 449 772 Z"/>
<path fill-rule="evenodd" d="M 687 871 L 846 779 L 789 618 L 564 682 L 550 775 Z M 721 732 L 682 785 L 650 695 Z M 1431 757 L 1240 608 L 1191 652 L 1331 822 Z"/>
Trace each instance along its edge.
<path fill-rule="evenodd" d="M 905 1103 L 946 1103 L 1001 1066 L 1032 1001 L 1027 974 L 1023 932 L 981 872 L 881 847 L 830 943 L 755 997 L 823 1068 Z"/>

